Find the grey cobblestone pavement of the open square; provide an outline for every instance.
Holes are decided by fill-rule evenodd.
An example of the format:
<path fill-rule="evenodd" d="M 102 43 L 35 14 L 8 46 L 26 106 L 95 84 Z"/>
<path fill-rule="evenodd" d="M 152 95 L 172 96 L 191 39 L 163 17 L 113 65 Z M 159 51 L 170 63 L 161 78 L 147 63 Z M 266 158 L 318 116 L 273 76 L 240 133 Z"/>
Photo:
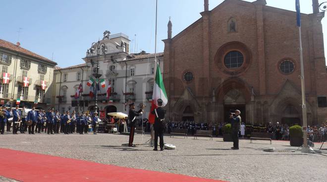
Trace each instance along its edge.
<path fill-rule="evenodd" d="M 144 143 L 149 138 L 149 135 L 135 135 L 134 143 Z M 232 143 L 222 142 L 222 138 L 213 141 L 206 137 L 164 139 L 177 149 L 152 151 L 147 145 L 121 146 L 128 136 L 112 134 L 9 133 L 0 135 L 0 148 L 231 182 L 324 182 L 327 179 L 327 156 L 292 152 L 297 147 L 289 146 L 289 141 L 272 141 L 271 145 L 269 141 L 250 144 L 249 140 L 241 139 L 240 150 L 230 150 Z M 262 151 L 266 147 L 282 151 Z"/>

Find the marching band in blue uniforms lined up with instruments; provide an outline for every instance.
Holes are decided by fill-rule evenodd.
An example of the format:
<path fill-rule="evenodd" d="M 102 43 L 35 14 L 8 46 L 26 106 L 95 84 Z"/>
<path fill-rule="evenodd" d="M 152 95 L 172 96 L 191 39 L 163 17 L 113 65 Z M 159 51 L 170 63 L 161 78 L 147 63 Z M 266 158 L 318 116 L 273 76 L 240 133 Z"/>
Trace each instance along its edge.
<path fill-rule="evenodd" d="M 96 134 L 97 125 L 99 123 L 98 112 L 75 112 L 65 111 L 59 113 L 54 108 L 48 111 L 35 110 L 35 107 L 27 111 L 23 106 L 21 109 L 16 105 L 14 109 L 11 107 L 1 106 L 0 111 L 0 134 L 6 131 L 17 135 L 25 132 L 30 135 L 35 133 L 47 133 L 49 135 L 63 133 L 66 135 L 79 133 L 81 135 L 88 134 L 89 128 L 93 127 L 93 133 Z"/>

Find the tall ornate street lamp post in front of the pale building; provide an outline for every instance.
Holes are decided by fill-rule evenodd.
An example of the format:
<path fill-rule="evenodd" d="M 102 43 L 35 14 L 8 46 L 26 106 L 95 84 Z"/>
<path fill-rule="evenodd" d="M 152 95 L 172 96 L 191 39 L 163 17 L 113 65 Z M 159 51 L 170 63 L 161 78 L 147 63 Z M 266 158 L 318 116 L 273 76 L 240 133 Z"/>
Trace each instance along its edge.
<path fill-rule="evenodd" d="M 90 53 L 95 53 L 95 50 L 97 49 L 97 56 L 98 56 L 98 60 L 97 60 L 97 67 L 95 68 L 96 71 L 95 73 L 93 73 L 93 76 L 96 78 L 96 83 L 99 84 L 99 78 L 102 76 L 101 74 L 99 74 L 99 57 L 100 57 L 100 50 L 102 50 L 103 54 L 107 53 L 107 46 L 105 43 L 101 43 L 100 41 L 98 41 L 97 43 L 92 43 L 90 50 Z M 95 100 L 95 110 L 98 112 L 98 87 L 95 88 L 96 89 L 96 100 Z"/>

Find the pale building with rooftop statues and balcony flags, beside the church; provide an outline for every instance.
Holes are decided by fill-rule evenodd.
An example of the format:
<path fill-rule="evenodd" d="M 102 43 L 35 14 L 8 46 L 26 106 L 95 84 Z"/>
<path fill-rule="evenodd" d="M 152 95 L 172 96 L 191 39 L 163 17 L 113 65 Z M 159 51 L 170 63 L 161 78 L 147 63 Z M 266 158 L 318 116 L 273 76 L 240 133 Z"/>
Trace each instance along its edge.
<path fill-rule="evenodd" d="M 90 96 L 91 87 L 87 86 L 87 82 L 90 77 L 95 79 L 93 74 L 96 73 L 99 60 L 99 74 L 102 75 L 100 79 L 105 79 L 106 82 L 106 87 L 100 87 L 98 91 L 99 109 L 105 113 L 127 113 L 127 103 L 135 102 L 136 106 L 145 103 L 147 107 L 143 117 L 148 118 L 154 84 L 155 55 L 144 51 L 129 54 L 128 36 L 122 33 L 109 35 L 106 32 L 103 40 L 99 42 L 101 48 L 99 55 L 97 46 L 94 46 L 94 53 L 89 49 L 86 57 L 83 58 L 85 63 L 55 69 L 54 106 L 59 111 L 94 109 L 95 97 Z M 163 67 L 163 53 L 158 53 L 157 59 Z M 106 91 L 109 83 L 111 96 L 107 98 Z M 83 93 L 80 98 L 75 99 L 74 95 L 80 84 L 82 84 Z"/>

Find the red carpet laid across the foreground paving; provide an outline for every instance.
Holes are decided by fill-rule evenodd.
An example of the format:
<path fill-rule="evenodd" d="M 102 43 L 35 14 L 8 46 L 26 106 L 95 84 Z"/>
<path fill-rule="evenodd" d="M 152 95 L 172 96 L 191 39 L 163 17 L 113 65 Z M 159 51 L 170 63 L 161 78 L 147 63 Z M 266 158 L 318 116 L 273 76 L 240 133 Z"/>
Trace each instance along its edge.
<path fill-rule="evenodd" d="M 23 182 L 222 182 L 2 148 L 0 176 Z"/>

